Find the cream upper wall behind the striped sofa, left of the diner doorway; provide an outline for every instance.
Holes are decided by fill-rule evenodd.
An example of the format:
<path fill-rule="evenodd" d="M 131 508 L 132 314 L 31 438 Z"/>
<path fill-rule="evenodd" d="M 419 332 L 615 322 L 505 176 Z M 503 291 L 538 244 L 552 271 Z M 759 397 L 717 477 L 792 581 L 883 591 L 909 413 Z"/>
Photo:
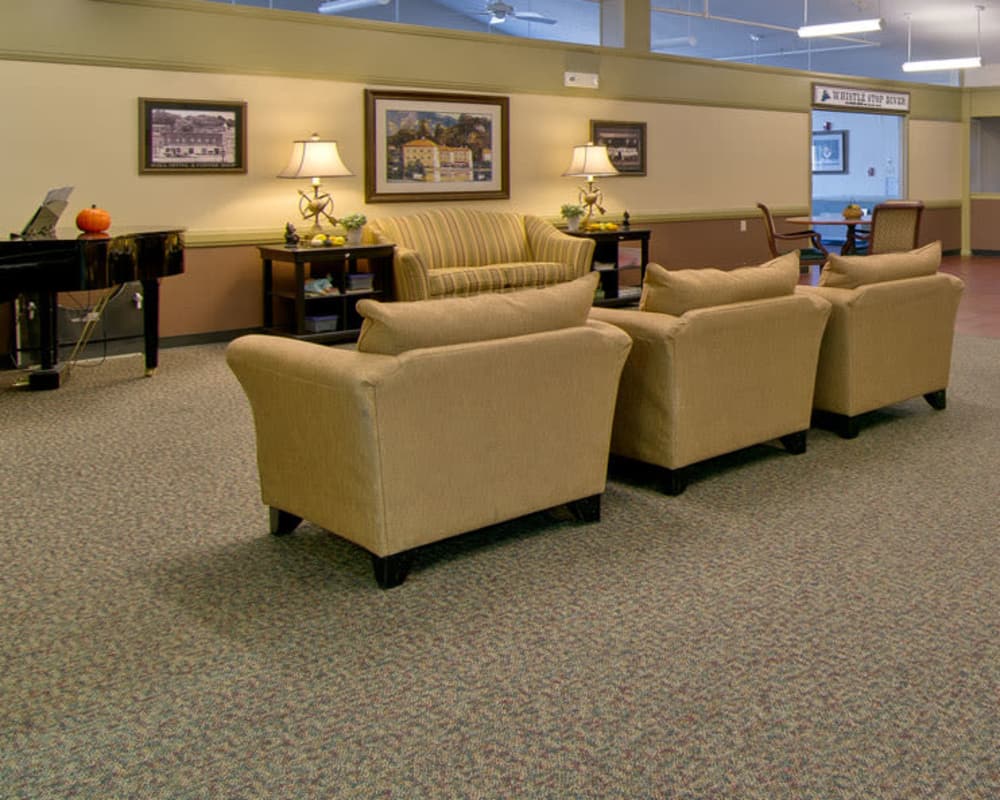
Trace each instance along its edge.
<path fill-rule="evenodd" d="M 75 186 L 71 209 L 91 203 L 120 225 L 169 224 L 198 235 L 280 233 L 295 220 L 296 189 L 308 181 L 275 177 L 294 138 L 318 131 L 336 138 L 351 178 L 330 179 L 338 213 L 400 214 L 426 204 L 364 203 L 364 84 L 247 75 L 136 70 L 0 61 L 5 114 L 0 132 L 10 159 L 10 189 L 0 218 L 16 230 L 48 188 Z M 140 175 L 137 98 L 245 100 L 246 175 Z M 45 102 L 39 103 L 38 98 Z M 647 177 L 601 181 L 606 205 L 620 215 L 711 212 L 757 199 L 808 201 L 806 113 L 678 106 L 592 97 L 510 96 L 511 197 L 482 202 L 555 216 L 575 199 L 576 179 L 562 177 L 574 144 L 592 118 L 643 120 Z"/>

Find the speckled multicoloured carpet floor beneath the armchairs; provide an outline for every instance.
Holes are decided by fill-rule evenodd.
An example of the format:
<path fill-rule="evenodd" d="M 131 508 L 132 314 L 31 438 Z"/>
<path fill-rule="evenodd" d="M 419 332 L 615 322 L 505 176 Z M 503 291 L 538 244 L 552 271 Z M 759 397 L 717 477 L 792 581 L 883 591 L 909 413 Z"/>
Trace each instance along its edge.
<path fill-rule="evenodd" d="M 0 797 L 1000 797 L 1000 340 L 944 412 L 613 475 L 389 592 L 267 534 L 222 352 L 0 374 Z"/>

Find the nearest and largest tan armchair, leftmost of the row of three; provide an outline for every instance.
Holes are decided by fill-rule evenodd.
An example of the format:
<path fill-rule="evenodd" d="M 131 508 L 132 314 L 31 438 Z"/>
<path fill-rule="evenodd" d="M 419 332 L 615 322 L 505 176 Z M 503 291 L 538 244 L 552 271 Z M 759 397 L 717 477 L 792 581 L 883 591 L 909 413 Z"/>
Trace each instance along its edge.
<path fill-rule="evenodd" d="M 599 518 L 630 342 L 587 320 L 596 281 L 363 300 L 356 351 L 232 342 L 272 533 L 322 526 L 368 550 L 388 588 L 429 542 L 564 503 Z"/>

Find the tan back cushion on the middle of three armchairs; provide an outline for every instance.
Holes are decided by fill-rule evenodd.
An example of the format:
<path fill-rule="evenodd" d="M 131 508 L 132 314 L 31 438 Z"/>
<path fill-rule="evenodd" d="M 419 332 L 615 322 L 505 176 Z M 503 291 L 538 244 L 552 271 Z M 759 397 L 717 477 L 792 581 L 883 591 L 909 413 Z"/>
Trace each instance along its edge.
<path fill-rule="evenodd" d="M 792 294 L 799 282 L 799 254 L 793 250 L 756 267 L 668 270 L 646 266 L 639 308 L 679 317 L 685 311 Z"/>

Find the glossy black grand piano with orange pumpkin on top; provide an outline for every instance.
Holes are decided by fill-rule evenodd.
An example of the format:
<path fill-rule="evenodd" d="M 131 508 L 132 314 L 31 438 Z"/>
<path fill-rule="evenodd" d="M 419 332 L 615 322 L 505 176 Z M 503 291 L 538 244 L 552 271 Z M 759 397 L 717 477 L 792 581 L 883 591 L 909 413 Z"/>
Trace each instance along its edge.
<path fill-rule="evenodd" d="M 38 308 L 41 365 L 28 373 L 29 387 L 59 388 L 58 293 L 130 281 L 142 283 L 146 374 L 151 375 L 158 363 L 160 278 L 183 271 L 181 228 L 112 228 L 89 234 L 56 230 L 49 236 L 0 240 L 0 302 L 24 294 L 36 298 Z"/>

